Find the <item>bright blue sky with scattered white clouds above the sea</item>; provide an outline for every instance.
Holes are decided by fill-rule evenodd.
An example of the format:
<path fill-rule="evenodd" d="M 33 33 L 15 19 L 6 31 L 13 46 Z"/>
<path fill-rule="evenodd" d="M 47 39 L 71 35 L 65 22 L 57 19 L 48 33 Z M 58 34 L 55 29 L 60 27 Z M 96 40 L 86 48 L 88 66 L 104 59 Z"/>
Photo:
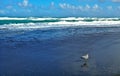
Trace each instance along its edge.
<path fill-rule="evenodd" d="M 120 0 L 0 0 L 1 17 L 120 17 Z"/>

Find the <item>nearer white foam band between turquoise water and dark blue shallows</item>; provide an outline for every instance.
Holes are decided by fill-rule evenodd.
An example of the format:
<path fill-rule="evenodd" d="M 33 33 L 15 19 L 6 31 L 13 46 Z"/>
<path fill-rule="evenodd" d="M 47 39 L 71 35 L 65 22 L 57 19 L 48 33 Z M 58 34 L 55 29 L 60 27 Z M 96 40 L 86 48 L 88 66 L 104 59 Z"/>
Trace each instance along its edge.
<path fill-rule="evenodd" d="M 93 21 L 93 22 L 50 22 L 50 23 L 18 23 L 0 25 L 0 29 L 9 30 L 34 30 L 34 29 L 51 29 L 66 27 L 120 27 L 120 21 Z"/>

